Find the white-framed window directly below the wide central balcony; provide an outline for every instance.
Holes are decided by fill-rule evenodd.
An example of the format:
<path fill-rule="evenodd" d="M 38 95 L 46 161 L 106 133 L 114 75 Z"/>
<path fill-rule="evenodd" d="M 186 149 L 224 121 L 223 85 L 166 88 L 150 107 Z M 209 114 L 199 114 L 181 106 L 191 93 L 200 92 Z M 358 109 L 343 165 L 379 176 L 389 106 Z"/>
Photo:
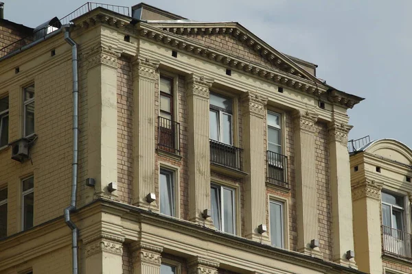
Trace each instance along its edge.
<path fill-rule="evenodd" d="M 210 197 L 211 219 L 216 229 L 236 234 L 235 190 L 212 184 Z"/>

